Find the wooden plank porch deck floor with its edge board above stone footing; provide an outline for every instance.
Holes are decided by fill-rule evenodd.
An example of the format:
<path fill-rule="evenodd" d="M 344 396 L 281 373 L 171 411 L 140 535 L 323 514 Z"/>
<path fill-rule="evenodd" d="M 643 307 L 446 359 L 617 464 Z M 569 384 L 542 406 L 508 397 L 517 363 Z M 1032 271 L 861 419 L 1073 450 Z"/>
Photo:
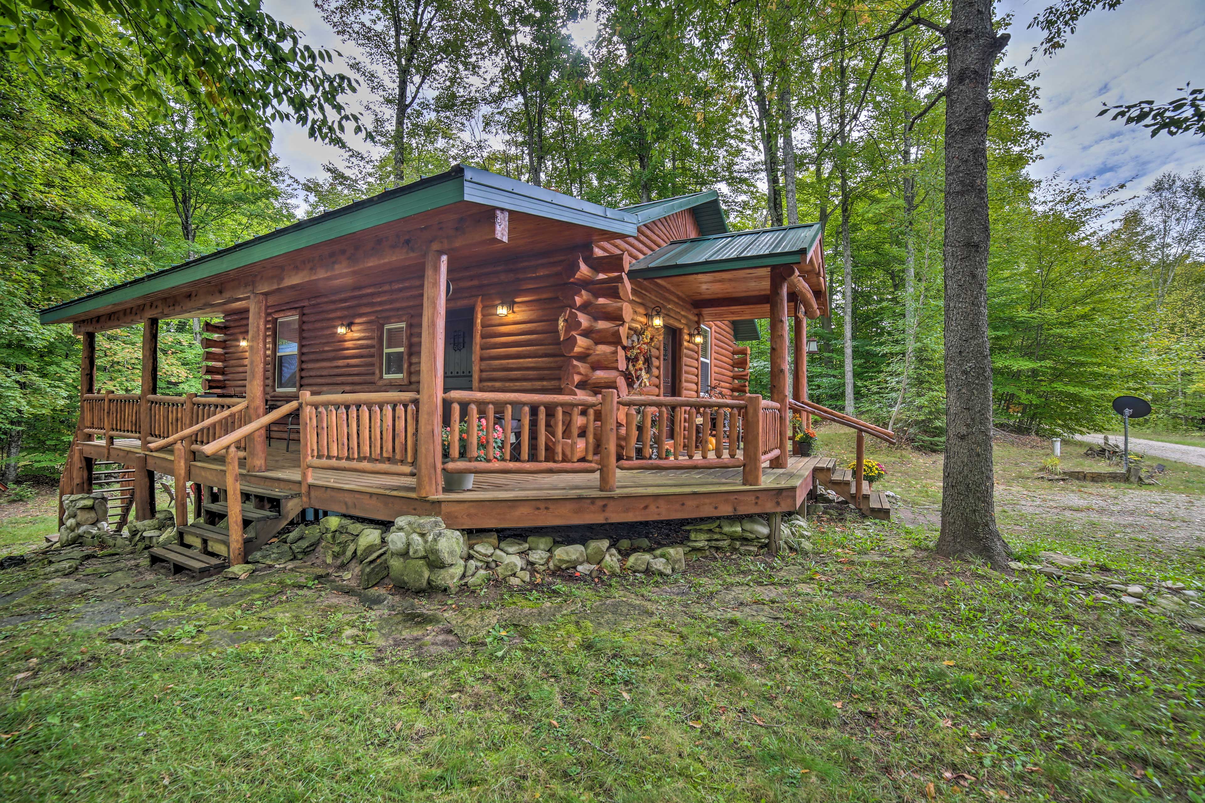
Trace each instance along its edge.
<path fill-rule="evenodd" d="M 104 457 L 105 444 L 80 444 L 86 457 Z M 145 459 L 147 468 L 172 472 L 170 451 L 143 453 L 139 442 L 113 443 L 112 460 L 133 464 Z M 399 515 L 439 515 L 451 527 L 534 527 L 566 524 L 646 521 L 712 515 L 793 512 L 812 489 L 818 457 L 792 456 L 786 468 L 763 468 L 762 485 L 741 484 L 741 468 L 680 471 L 619 471 L 616 490 L 600 491 L 598 474 L 477 474 L 466 491 L 445 491 L 419 498 L 413 477 L 368 474 L 354 471 L 313 470 L 312 507 L 375 519 Z M 268 470 L 240 471 L 240 480 L 286 491 L 300 491 L 301 472 L 296 443 L 288 453 L 274 441 Z M 190 464 L 189 479 L 202 485 L 225 485 L 221 456 Z"/>

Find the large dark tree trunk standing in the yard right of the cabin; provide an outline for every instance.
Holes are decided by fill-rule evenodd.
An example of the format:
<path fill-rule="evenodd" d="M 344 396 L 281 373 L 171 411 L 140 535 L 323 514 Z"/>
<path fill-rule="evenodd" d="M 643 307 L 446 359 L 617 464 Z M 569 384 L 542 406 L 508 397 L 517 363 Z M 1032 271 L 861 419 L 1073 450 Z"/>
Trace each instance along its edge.
<path fill-rule="evenodd" d="M 953 0 L 946 35 L 946 461 L 937 554 L 1004 569 L 992 488 L 992 356 L 987 332 L 988 85 L 1009 35 L 992 0 Z"/>

